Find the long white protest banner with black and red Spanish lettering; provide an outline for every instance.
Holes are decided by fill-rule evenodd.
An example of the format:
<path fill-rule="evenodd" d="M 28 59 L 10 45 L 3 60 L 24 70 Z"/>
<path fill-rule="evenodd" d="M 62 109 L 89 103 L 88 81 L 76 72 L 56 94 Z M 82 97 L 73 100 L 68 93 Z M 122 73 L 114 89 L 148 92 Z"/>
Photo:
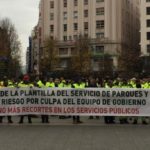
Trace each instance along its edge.
<path fill-rule="evenodd" d="M 149 89 L 0 88 L 0 116 L 150 116 Z"/>

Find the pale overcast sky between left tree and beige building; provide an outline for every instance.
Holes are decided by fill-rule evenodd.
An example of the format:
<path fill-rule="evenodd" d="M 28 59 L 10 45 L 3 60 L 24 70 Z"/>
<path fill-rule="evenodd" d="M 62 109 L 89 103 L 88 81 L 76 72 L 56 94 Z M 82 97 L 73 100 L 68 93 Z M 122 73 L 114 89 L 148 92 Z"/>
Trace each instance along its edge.
<path fill-rule="evenodd" d="M 0 19 L 10 18 L 22 43 L 23 63 L 28 46 L 28 37 L 38 22 L 40 0 L 0 0 Z"/>

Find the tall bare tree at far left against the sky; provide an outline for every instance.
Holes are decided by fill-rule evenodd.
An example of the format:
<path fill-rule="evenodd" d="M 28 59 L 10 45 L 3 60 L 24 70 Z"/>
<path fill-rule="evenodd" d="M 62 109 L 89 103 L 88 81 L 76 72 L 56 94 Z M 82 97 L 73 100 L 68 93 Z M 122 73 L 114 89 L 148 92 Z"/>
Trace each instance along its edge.
<path fill-rule="evenodd" d="M 15 76 L 21 70 L 21 43 L 10 19 L 0 20 L 0 29 L 0 56 L 6 61 L 5 75 Z"/>

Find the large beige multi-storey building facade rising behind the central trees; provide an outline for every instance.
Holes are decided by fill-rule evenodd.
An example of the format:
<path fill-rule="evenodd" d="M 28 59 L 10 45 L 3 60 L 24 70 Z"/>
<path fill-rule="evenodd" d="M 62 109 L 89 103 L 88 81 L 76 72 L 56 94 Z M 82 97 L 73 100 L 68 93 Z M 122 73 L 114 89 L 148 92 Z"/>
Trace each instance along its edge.
<path fill-rule="evenodd" d="M 118 68 L 118 53 L 137 49 L 140 30 L 139 0 L 41 0 L 39 5 L 39 49 L 47 37 L 58 42 L 61 67 L 67 67 L 74 41 L 79 35 L 91 39 L 95 56 L 109 54 L 113 69 Z M 100 71 L 100 60 L 93 57 L 92 69 Z M 100 66 L 99 66 L 100 65 Z"/>

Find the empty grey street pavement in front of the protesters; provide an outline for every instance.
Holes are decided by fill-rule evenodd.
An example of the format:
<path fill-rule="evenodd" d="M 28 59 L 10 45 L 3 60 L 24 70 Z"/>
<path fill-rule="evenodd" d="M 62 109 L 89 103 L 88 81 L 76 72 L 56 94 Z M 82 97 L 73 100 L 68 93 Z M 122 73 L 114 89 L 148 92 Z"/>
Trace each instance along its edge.
<path fill-rule="evenodd" d="M 0 126 L 1 150 L 149 150 L 150 125 L 105 125 L 102 120 L 50 118 L 48 125 L 27 123 Z M 5 120 L 4 120 L 5 121 Z"/>

